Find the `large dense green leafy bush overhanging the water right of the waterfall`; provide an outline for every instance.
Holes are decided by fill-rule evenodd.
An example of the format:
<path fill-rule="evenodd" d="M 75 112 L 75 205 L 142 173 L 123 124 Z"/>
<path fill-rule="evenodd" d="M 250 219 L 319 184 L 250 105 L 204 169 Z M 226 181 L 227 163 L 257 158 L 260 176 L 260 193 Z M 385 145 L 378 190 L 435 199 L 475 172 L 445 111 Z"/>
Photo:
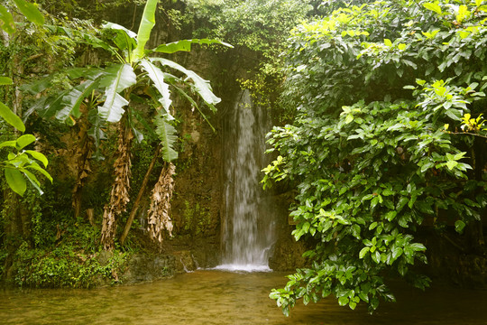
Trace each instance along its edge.
<path fill-rule="evenodd" d="M 285 314 L 330 294 L 374 311 L 394 300 L 389 275 L 428 285 L 412 270 L 427 263 L 419 227 L 482 229 L 486 22 L 482 0 L 400 0 L 294 30 L 283 102 L 295 117 L 270 134 L 279 157 L 264 183 L 297 186 L 293 235 L 317 244 L 271 292 Z"/>

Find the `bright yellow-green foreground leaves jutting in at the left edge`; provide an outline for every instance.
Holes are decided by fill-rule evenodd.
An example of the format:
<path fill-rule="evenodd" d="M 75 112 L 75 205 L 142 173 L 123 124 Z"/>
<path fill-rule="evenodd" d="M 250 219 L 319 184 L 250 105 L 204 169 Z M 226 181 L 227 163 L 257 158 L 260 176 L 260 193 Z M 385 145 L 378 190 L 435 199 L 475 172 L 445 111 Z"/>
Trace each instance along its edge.
<path fill-rule="evenodd" d="M 32 23 L 42 24 L 44 18 L 41 12 L 35 5 L 24 0 L 14 0 L 17 9 Z M 0 28 L 6 33 L 12 34 L 15 32 L 15 22 L 13 15 L 0 5 Z M 14 81 L 8 77 L 0 77 L 0 86 L 13 86 Z M 4 103 L 0 102 L 0 117 L 4 121 L 14 126 L 17 132 L 25 132 L 25 125 L 22 119 L 15 115 L 14 112 Z M 2 126 L 0 132 L 5 131 L 5 126 Z M 15 193 L 23 196 L 27 190 L 27 181 L 32 183 L 32 186 L 42 194 L 41 182 L 37 179 L 36 173 L 44 175 L 52 182 L 52 177 L 45 168 L 48 165 L 46 156 L 34 150 L 28 150 L 26 147 L 36 141 L 34 135 L 17 135 L 13 140 L 8 140 L 0 143 L 0 149 L 8 150 L 7 159 L 0 162 L 0 167 L 4 170 L 5 180 L 7 185 L 14 190 Z M 39 164 L 39 162 L 43 165 Z"/>

